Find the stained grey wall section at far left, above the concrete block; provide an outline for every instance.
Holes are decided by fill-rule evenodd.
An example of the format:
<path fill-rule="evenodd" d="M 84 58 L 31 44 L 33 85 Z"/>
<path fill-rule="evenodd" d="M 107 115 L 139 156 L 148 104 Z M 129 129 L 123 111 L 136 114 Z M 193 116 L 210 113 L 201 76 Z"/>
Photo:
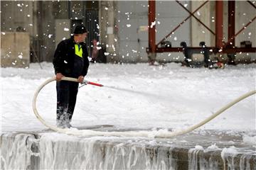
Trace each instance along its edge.
<path fill-rule="evenodd" d="M 38 60 L 51 61 L 55 48 L 53 2 L 1 1 L 1 32 L 16 32 L 18 27 L 30 35 Z"/>

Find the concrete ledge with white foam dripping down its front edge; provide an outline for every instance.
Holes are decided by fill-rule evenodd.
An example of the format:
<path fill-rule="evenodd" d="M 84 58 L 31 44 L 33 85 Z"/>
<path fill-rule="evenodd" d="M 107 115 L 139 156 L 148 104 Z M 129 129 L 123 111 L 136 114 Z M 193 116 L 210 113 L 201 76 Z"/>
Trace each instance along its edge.
<path fill-rule="evenodd" d="M 238 133 L 215 131 L 173 139 L 5 132 L 1 169 L 256 169 L 256 152 Z"/>

